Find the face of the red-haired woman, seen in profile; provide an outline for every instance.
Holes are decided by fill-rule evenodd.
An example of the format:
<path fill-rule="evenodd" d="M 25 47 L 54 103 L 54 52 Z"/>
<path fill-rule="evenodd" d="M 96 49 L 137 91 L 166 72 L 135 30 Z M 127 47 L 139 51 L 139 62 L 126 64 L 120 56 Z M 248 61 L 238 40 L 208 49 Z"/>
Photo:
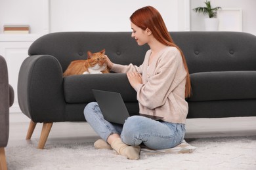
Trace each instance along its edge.
<path fill-rule="evenodd" d="M 146 43 L 148 43 L 148 34 L 146 30 L 141 29 L 137 25 L 133 24 L 131 22 L 131 29 L 133 29 L 133 32 L 131 33 L 131 37 L 137 41 L 139 46 L 142 46 Z"/>

